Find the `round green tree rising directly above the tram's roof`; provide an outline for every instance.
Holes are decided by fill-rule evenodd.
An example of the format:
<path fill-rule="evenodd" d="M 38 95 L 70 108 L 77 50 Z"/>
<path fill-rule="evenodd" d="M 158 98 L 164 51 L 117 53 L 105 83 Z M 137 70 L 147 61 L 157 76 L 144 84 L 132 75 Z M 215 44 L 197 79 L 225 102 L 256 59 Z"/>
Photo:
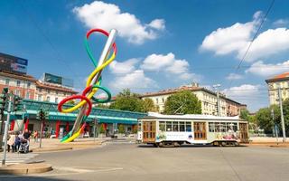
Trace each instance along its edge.
<path fill-rule="evenodd" d="M 201 103 L 191 91 L 182 90 L 168 97 L 164 103 L 164 113 L 201 114 Z"/>

